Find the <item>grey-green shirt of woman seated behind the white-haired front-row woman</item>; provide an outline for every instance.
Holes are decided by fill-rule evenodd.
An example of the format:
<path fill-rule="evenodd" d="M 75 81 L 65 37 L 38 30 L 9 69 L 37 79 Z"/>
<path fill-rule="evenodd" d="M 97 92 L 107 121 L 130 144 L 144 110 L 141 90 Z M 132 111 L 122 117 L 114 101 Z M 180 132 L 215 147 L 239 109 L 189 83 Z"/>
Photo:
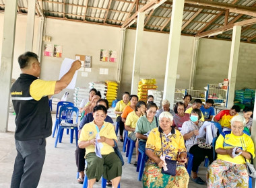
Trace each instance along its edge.
<path fill-rule="evenodd" d="M 158 127 L 156 124 L 157 118 L 154 117 L 154 120 L 150 123 L 146 118 L 146 115 L 141 116 L 137 121 L 137 126 L 135 128 L 135 133 L 146 134 L 147 132 L 151 131 L 152 129 Z M 158 120 L 157 120 L 158 121 Z M 146 142 L 147 140 L 141 139 L 141 141 Z"/>

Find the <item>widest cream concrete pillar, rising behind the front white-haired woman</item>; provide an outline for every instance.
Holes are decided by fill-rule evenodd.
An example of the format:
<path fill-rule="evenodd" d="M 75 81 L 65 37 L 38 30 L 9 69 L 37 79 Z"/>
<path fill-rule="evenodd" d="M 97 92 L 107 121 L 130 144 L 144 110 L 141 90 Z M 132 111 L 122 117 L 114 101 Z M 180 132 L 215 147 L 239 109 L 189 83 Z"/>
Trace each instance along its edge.
<path fill-rule="evenodd" d="M 172 1 L 172 19 L 170 21 L 170 34 L 168 42 L 168 54 L 166 60 L 163 96 L 163 99 L 168 99 L 168 101 L 170 101 L 171 108 L 174 103 L 174 92 L 181 42 L 181 25 L 183 21 L 184 1 L 185 0 Z"/>

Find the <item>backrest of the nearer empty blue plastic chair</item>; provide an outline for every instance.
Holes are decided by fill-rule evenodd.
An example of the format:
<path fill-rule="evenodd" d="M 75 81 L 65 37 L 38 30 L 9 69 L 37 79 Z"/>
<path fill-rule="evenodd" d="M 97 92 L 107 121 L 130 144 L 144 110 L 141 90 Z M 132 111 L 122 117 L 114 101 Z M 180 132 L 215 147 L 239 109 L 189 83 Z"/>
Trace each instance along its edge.
<path fill-rule="evenodd" d="M 72 124 L 78 123 L 79 109 L 77 107 L 69 106 L 69 105 L 62 106 L 61 109 L 59 110 L 59 114 L 63 114 L 63 113 L 65 113 L 65 122 L 71 123 L 71 121 L 72 121 Z M 73 115 L 76 115 L 75 123 L 73 123 Z M 60 123 L 61 123 L 61 120 L 63 120 L 63 119 L 60 116 L 59 117 Z"/>

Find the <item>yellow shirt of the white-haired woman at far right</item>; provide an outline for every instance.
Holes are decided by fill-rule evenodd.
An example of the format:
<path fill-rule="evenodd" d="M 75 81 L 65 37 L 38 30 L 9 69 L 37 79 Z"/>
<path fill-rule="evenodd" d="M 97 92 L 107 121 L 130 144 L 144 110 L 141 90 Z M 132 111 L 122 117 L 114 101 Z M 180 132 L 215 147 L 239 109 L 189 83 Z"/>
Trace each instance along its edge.
<path fill-rule="evenodd" d="M 253 140 L 251 140 L 251 137 L 247 134 L 243 134 L 242 136 L 235 136 L 232 133 L 226 134 L 226 136 L 220 134 L 220 136 L 216 140 L 215 149 L 228 149 L 234 147 L 241 147 L 244 151 L 250 152 L 253 155 L 253 158 L 255 157 Z M 235 164 L 245 163 L 245 158 L 242 155 L 238 155 L 232 158 L 229 154 L 217 154 L 217 159 L 232 162 Z"/>

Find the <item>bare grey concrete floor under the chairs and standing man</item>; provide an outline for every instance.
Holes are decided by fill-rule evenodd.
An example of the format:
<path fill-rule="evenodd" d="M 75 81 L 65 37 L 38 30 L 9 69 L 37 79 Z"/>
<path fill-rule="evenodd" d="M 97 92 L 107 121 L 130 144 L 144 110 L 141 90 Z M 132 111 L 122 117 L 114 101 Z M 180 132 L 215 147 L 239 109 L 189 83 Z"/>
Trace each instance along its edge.
<path fill-rule="evenodd" d="M 53 122 L 55 122 L 55 114 Z M 17 154 L 14 144 L 15 131 L 15 115 L 9 113 L 8 132 L 0 133 L 0 187 L 9 187 L 11 182 L 11 174 L 13 171 L 13 164 Z M 77 167 L 75 165 L 75 143 L 69 143 L 69 136 L 63 135 L 63 143 L 58 143 L 57 148 L 54 147 L 55 138 L 49 137 L 46 139 L 46 159 L 42 175 L 40 178 L 39 188 L 81 188 L 82 185 L 76 181 Z M 122 143 L 119 142 L 121 150 Z M 123 166 L 123 175 L 121 178 L 121 187 L 142 187 L 142 183 L 137 181 L 137 175 L 133 163 L 135 162 L 135 153 L 131 160 L 132 164 L 127 163 L 125 153 L 123 153 L 125 165 Z M 199 167 L 199 177 L 205 181 L 205 167 Z M 96 183 L 94 187 L 101 187 L 100 182 Z M 206 187 L 206 185 L 198 185 L 189 181 L 189 188 Z"/>

